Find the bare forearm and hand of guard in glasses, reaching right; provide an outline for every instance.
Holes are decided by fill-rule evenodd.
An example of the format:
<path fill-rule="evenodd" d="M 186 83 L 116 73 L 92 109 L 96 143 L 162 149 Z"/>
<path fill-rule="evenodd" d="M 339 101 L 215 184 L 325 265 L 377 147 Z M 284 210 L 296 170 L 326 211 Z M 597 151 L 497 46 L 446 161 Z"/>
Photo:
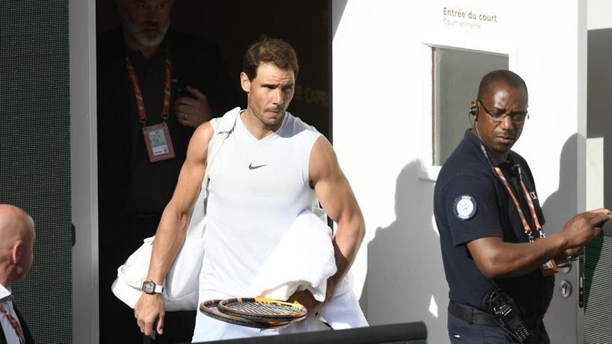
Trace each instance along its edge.
<path fill-rule="evenodd" d="M 467 243 L 478 270 L 488 279 L 525 275 L 563 254 L 565 249 L 581 247 L 601 234 L 599 226 L 610 218 L 607 209 L 587 211 L 574 216 L 558 233 L 533 243 L 505 243 L 499 236 L 478 238 Z"/>

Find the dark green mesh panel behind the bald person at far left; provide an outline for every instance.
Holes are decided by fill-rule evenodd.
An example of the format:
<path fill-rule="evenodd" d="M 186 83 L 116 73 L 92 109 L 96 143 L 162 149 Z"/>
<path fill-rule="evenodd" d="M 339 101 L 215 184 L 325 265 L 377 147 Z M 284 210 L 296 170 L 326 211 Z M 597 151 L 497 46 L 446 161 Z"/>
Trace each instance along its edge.
<path fill-rule="evenodd" d="M 67 0 L 0 1 L 0 202 L 34 218 L 13 286 L 36 343 L 72 343 Z"/>

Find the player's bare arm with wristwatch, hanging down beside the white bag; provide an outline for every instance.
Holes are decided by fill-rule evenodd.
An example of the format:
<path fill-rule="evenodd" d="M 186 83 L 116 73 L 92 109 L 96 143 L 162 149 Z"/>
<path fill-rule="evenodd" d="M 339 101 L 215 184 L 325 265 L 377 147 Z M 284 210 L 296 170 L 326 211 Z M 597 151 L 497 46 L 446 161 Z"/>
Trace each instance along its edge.
<path fill-rule="evenodd" d="M 155 234 L 151 262 L 147 272 L 147 280 L 155 284 L 163 284 L 166 274 L 174 261 L 179 248 L 186 236 L 186 229 L 191 218 L 195 200 L 200 194 L 200 186 L 204 178 L 207 164 L 208 143 L 214 131 L 210 123 L 204 123 L 195 130 L 187 157 L 181 168 L 177 187 L 172 199 L 163 210 L 161 221 Z M 150 338 L 155 338 L 153 325 L 157 320 L 157 331 L 163 331 L 163 300 L 160 295 L 143 293 L 134 306 L 140 331 Z"/>

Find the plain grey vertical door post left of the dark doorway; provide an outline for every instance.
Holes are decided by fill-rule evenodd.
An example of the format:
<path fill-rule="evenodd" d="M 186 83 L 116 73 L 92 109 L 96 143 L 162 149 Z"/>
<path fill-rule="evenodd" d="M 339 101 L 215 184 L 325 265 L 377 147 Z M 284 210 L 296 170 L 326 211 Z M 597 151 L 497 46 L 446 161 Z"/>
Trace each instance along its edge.
<path fill-rule="evenodd" d="M 98 343 L 95 0 L 70 0 L 70 149 L 72 223 L 72 337 Z"/>

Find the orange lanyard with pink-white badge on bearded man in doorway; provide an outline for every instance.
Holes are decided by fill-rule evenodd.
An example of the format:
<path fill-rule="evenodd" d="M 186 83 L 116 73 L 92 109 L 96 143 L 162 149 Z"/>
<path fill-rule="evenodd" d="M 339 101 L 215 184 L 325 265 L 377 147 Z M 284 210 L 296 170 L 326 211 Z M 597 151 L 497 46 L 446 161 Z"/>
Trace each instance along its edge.
<path fill-rule="evenodd" d="M 140 88 L 140 82 L 136 76 L 134 66 L 128 56 L 125 56 L 125 67 L 131 83 L 134 95 L 136 96 L 136 104 L 138 106 L 138 119 L 143 124 L 143 136 L 145 145 L 149 153 L 149 160 L 154 163 L 156 161 L 174 158 L 175 151 L 172 147 L 170 138 L 170 130 L 166 120 L 170 116 L 170 88 L 172 83 L 172 59 L 166 55 L 166 60 L 163 66 L 163 106 L 161 108 L 161 124 L 147 126 L 147 113 L 145 112 L 145 103 L 143 101 L 143 91 Z"/>

